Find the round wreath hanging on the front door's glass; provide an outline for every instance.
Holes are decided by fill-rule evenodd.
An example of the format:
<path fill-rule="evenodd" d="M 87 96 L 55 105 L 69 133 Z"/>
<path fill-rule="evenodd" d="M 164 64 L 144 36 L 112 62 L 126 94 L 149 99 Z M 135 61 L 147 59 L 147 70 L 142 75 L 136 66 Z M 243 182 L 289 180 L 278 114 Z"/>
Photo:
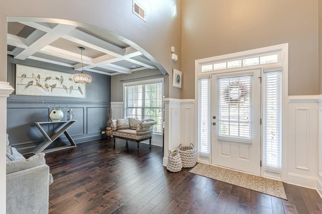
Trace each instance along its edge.
<path fill-rule="evenodd" d="M 232 91 L 234 90 L 237 90 L 238 93 L 232 94 Z M 232 82 L 223 91 L 223 99 L 228 105 L 239 105 L 244 103 L 248 99 L 248 87 L 239 81 Z"/>

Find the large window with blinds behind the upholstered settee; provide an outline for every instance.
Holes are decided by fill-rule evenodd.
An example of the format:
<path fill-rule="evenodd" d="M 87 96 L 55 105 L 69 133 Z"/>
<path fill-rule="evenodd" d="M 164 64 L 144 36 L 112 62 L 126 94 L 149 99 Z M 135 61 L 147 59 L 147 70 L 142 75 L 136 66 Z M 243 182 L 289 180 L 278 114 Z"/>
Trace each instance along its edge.
<path fill-rule="evenodd" d="M 163 81 L 148 81 L 137 85 L 124 84 L 125 118 L 153 119 L 154 133 L 162 133 Z"/>

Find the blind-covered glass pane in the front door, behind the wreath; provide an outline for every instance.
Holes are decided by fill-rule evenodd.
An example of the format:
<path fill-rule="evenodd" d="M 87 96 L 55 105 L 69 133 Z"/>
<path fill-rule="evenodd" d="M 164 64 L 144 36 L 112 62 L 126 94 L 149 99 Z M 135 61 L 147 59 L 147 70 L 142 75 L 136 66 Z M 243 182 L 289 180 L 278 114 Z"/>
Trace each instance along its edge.
<path fill-rule="evenodd" d="M 218 79 L 219 136 L 251 139 L 251 76 Z"/>

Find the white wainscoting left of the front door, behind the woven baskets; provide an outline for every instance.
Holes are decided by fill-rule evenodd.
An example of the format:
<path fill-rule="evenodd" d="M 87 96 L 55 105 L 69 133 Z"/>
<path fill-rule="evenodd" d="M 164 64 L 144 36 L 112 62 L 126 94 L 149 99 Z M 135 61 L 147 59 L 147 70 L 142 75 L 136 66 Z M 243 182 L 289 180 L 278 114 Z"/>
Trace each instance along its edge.
<path fill-rule="evenodd" d="M 194 130 L 195 105 L 193 99 L 164 99 L 165 106 L 165 133 L 163 165 L 167 165 L 169 150 L 179 146 L 196 144 Z"/>

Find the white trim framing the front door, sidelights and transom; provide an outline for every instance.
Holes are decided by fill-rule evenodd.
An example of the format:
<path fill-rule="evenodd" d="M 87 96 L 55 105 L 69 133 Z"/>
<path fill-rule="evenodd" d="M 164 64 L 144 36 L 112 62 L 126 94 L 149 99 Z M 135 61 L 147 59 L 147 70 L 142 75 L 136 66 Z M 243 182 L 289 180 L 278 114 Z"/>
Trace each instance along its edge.
<path fill-rule="evenodd" d="M 260 64 L 260 65 L 255 65 L 255 66 L 247 66 L 247 67 L 241 67 L 241 68 L 232 68 L 232 69 L 225 69 L 225 70 L 216 70 L 216 71 L 209 71 L 209 72 L 201 72 L 201 66 L 203 65 L 208 65 L 208 64 L 213 64 L 217 63 L 220 61 L 225 61 L 225 60 L 231 60 L 231 59 L 239 59 L 242 57 L 248 57 L 252 58 L 261 56 L 263 54 L 274 54 L 278 53 L 278 63 L 269 63 L 269 64 Z M 256 69 L 256 68 L 261 68 L 261 69 L 274 69 L 274 68 L 282 68 L 282 133 L 287 133 L 287 115 L 288 115 L 288 43 L 285 44 L 280 44 L 280 45 L 275 45 L 275 46 L 269 46 L 269 47 L 264 47 L 264 48 L 259 48 L 259 49 L 253 49 L 249 51 L 243 51 L 243 52 L 237 52 L 237 53 L 232 53 L 232 54 L 226 54 L 226 55 L 221 55 L 221 56 L 216 56 L 216 57 L 209 57 L 209 58 L 204 58 L 204 59 L 199 59 L 195 61 L 195 101 L 196 101 L 196 106 L 198 106 L 198 78 L 201 76 L 211 75 L 213 73 L 229 73 L 229 72 L 235 72 L 235 71 L 243 71 L 243 70 L 250 70 L 250 69 Z M 211 96 L 211 92 L 210 92 Z M 198 108 L 195 108 L 195 118 L 196 121 L 199 121 L 198 118 Z M 209 124 L 210 125 L 210 124 Z M 198 130 L 198 122 L 195 123 L 195 130 Z M 196 132 L 195 135 L 195 142 L 198 142 L 198 133 Z M 198 145 L 196 143 L 196 145 Z M 262 167 L 262 176 L 264 177 L 273 177 L 277 179 L 282 179 L 283 181 L 287 180 L 287 135 L 282 134 L 282 171 L 280 176 L 274 175 L 274 173 L 270 173 L 267 171 L 264 171 L 264 167 Z M 263 146 L 262 146 L 263 148 Z M 198 151 L 198 147 L 197 147 Z M 210 151 L 211 151 L 211 143 L 210 143 Z M 262 151 L 263 152 L 263 151 Z M 263 154 L 262 154 L 263 156 Z M 202 157 L 200 159 L 200 157 Z M 211 163 L 211 155 L 209 155 L 207 158 L 204 157 L 204 155 L 199 156 L 197 155 L 197 160 L 200 162 L 205 162 L 205 163 Z"/>

